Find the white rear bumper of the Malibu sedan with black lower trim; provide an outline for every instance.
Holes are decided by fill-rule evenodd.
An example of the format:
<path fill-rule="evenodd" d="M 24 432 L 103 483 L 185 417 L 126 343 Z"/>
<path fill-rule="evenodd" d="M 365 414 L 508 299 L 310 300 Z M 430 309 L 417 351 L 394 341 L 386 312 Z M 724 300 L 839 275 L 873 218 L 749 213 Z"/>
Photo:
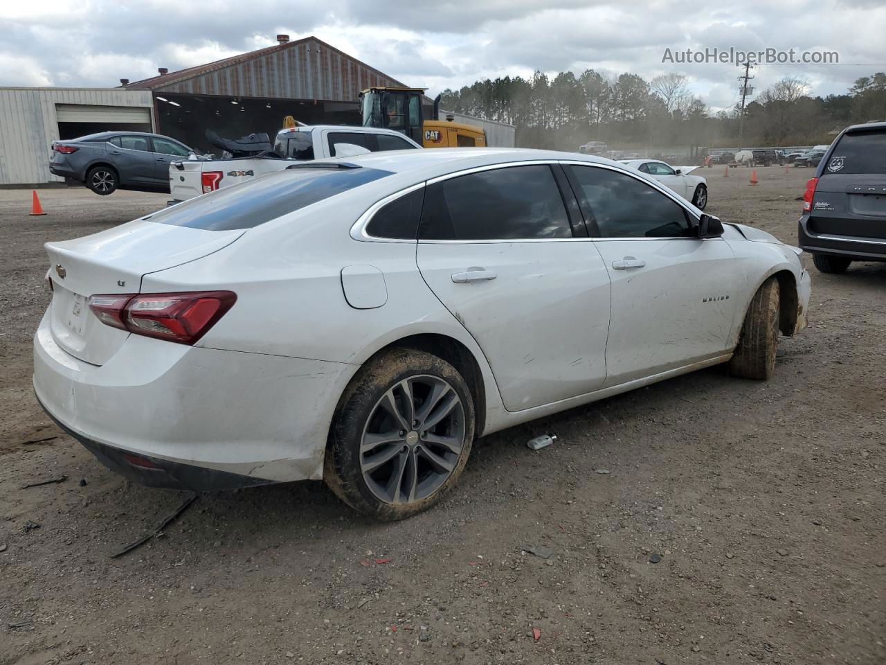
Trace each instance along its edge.
<path fill-rule="evenodd" d="M 175 489 L 322 478 L 332 413 L 355 369 L 139 335 L 97 366 L 59 347 L 48 317 L 34 338 L 35 394 L 51 418 L 115 471 Z"/>

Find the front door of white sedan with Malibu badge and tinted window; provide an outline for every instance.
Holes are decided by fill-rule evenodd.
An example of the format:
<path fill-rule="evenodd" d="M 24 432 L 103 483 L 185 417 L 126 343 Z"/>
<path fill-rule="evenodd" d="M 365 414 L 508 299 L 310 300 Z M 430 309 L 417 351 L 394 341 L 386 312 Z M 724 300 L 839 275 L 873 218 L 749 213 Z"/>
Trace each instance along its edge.
<path fill-rule="evenodd" d="M 745 276 L 723 239 L 626 171 L 565 166 L 612 285 L 606 381 L 616 386 L 727 353 Z"/>

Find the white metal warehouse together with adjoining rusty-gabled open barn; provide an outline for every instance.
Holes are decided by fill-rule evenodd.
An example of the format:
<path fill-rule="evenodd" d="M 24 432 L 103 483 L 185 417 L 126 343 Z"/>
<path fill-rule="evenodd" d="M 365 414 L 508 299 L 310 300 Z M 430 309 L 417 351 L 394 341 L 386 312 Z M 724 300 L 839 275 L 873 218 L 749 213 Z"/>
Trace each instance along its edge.
<path fill-rule="evenodd" d="M 316 37 L 277 44 L 120 87 L 0 88 L 0 186 L 61 182 L 49 171 L 53 140 L 105 129 L 155 131 L 202 152 L 222 137 L 265 132 L 291 115 L 307 124 L 360 124 L 358 95 L 403 83 Z"/>

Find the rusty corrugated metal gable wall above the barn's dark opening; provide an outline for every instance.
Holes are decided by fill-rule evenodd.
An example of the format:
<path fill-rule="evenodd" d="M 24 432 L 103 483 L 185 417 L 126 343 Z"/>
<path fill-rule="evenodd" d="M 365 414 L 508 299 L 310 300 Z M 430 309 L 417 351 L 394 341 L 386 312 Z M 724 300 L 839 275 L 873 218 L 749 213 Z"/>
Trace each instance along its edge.
<path fill-rule="evenodd" d="M 223 66 L 155 92 L 355 102 L 361 90 L 402 83 L 317 40 Z"/>

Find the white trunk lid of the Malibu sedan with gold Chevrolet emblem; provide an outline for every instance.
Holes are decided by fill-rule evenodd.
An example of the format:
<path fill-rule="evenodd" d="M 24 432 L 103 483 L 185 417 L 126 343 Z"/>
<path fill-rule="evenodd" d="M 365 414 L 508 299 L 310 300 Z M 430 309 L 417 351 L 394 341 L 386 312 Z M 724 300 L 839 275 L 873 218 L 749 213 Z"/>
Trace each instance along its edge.
<path fill-rule="evenodd" d="M 139 293 L 142 277 L 228 246 L 245 231 L 203 231 L 143 218 L 85 238 L 46 244 L 52 280 L 51 332 L 67 353 L 101 365 L 128 337 L 101 323 L 90 295 Z"/>

